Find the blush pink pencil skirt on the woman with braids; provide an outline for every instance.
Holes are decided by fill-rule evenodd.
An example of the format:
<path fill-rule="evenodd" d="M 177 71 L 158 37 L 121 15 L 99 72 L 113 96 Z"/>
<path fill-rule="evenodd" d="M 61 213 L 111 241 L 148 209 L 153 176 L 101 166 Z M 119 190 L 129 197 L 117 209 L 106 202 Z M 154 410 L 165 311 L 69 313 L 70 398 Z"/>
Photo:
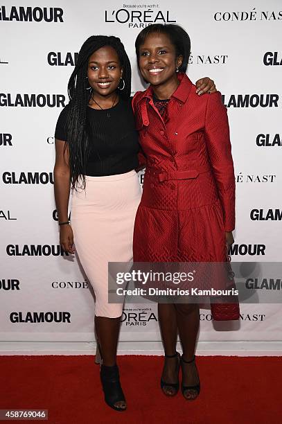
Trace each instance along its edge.
<path fill-rule="evenodd" d="M 73 191 L 71 227 L 76 253 L 94 289 L 97 317 L 120 317 L 123 303 L 108 303 L 108 262 L 132 261 L 136 210 L 141 199 L 135 170 L 85 177 L 85 190 Z"/>

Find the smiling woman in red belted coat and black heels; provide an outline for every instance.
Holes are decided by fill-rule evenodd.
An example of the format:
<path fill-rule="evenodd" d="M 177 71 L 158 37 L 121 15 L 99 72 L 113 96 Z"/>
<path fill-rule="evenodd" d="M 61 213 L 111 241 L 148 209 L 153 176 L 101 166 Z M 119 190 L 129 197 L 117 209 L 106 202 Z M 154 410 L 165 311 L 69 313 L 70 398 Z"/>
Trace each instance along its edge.
<path fill-rule="evenodd" d="M 221 95 L 198 96 L 185 71 L 188 34 L 177 25 L 151 25 L 136 39 L 146 91 L 133 98 L 136 126 L 146 157 L 141 204 L 134 227 L 136 262 L 222 262 L 235 227 L 235 178 L 227 110 Z M 165 363 L 164 394 L 179 388 L 200 393 L 195 341 L 198 304 L 159 303 Z M 183 355 L 176 352 L 177 330 Z"/>

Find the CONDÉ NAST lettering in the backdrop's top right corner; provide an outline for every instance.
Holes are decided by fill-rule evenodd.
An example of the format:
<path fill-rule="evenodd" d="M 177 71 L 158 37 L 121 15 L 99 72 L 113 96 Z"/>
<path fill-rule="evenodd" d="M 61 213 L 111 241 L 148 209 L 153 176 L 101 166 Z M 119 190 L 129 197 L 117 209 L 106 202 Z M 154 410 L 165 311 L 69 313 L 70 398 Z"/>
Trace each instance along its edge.
<path fill-rule="evenodd" d="M 282 19 L 282 11 L 256 10 L 253 8 L 247 12 L 215 12 L 215 21 L 279 21 Z"/>

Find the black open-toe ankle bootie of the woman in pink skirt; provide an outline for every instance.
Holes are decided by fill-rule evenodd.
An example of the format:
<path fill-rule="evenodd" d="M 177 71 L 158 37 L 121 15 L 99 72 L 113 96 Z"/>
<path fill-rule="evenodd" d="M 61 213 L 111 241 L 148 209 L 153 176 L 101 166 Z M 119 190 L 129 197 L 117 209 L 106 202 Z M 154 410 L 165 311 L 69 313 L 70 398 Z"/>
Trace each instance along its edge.
<path fill-rule="evenodd" d="M 100 378 L 105 395 L 105 403 L 116 411 L 125 411 L 126 405 L 125 408 L 114 405 L 117 402 L 125 402 L 125 396 L 121 388 L 121 382 L 119 381 L 118 366 L 106 366 L 102 364 Z"/>

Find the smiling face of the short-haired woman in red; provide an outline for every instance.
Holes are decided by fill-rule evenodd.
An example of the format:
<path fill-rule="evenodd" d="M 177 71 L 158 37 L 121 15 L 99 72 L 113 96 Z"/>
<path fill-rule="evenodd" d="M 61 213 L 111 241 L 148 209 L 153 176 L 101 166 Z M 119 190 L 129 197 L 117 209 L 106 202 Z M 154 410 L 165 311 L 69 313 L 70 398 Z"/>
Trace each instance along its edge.
<path fill-rule="evenodd" d="M 166 34 L 149 34 L 139 48 L 139 69 L 151 85 L 166 85 L 177 80 L 175 70 L 182 56 L 176 56 L 175 46 Z"/>

